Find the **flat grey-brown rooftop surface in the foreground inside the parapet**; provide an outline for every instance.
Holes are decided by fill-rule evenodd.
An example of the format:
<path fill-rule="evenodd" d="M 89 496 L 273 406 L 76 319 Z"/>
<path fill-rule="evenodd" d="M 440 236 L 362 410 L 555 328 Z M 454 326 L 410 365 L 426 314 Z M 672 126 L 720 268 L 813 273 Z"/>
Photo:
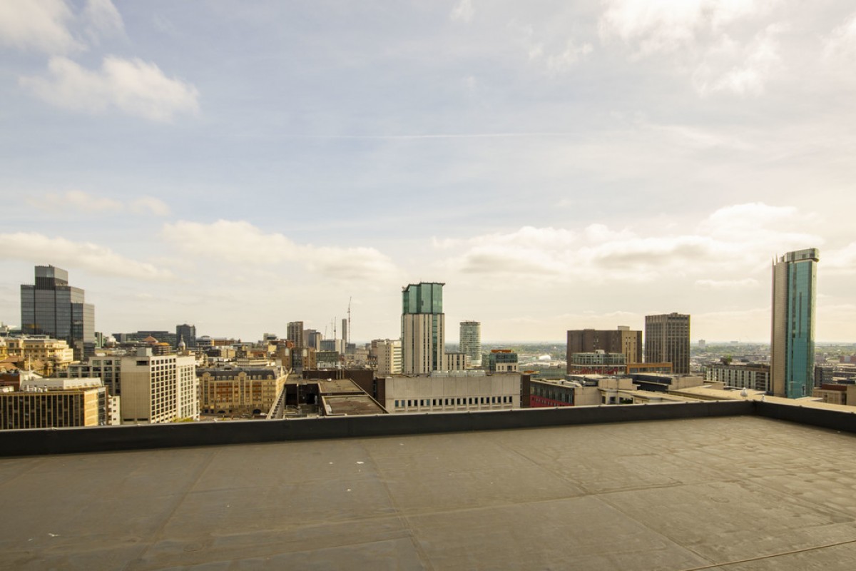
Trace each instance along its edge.
<path fill-rule="evenodd" d="M 856 568 L 856 437 L 752 416 L 0 459 L 0 568 Z"/>

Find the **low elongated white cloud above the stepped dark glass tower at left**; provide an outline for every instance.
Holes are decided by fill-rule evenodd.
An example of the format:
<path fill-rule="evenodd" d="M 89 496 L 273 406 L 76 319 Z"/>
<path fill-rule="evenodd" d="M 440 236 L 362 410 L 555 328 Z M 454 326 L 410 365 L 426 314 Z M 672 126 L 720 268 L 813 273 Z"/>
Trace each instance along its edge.
<path fill-rule="evenodd" d="M 166 280 L 169 271 L 128 259 L 108 247 L 91 242 L 74 242 L 65 238 L 50 238 L 36 232 L 0 234 L 0 259 L 20 259 L 27 262 L 45 260 L 66 269 L 81 268 L 104 276 L 129 277 L 139 280 Z"/>

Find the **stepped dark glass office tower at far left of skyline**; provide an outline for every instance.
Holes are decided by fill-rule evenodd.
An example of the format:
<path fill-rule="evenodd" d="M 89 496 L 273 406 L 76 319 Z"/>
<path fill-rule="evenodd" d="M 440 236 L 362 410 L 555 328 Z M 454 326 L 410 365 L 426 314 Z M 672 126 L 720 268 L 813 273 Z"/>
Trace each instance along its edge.
<path fill-rule="evenodd" d="M 95 350 L 95 307 L 68 285 L 68 271 L 37 265 L 35 285 L 21 285 L 21 332 L 62 339 L 81 360 Z"/>

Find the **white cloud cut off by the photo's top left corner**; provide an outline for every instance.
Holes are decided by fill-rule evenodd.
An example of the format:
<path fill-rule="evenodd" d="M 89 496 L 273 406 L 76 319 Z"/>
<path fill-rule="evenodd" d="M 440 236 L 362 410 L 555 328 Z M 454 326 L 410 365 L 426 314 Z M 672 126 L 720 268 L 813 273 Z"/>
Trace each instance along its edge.
<path fill-rule="evenodd" d="M 62 54 L 83 48 L 68 30 L 73 17 L 62 0 L 0 2 L 0 44 Z"/>

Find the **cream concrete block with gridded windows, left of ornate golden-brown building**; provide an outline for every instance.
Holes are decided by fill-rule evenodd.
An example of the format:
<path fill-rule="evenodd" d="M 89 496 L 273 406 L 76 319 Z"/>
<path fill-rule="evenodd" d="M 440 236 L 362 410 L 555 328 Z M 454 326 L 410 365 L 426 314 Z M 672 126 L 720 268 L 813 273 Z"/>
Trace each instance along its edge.
<path fill-rule="evenodd" d="M 122 424 L 199 420 L 199 381 L 190 355 L 151 348 L 122 357 Z"/>

